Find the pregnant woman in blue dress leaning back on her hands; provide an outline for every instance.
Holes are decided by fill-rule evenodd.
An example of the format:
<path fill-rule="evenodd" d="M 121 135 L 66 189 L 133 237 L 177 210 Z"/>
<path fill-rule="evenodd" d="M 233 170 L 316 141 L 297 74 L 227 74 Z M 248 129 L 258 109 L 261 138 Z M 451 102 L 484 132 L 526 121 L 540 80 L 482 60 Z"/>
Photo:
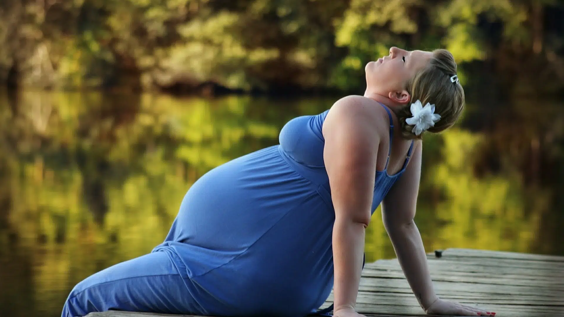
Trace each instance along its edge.
<path fill-rule="evenodd" d="M 290 120 L 280 144 L 236 158 L 188 190 L 164 243 L 70 292 L 63 317 L 107 310 L 303 317 L 334 289 L 333 315 L 357 317 L 365 228 L 382 203 L 396 255 L 428 314 L 488 316 L 437 297 L 413 217 L 421 135 L 464 108 L 445 50 L 365 67 L 364 96 Z"/>

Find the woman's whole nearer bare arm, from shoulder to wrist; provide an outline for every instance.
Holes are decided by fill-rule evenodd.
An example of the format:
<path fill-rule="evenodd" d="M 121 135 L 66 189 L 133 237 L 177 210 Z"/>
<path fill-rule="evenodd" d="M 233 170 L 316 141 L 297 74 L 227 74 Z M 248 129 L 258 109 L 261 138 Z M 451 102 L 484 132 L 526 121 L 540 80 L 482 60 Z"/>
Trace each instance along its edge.
<path fill-rule="evenodd" d="M 360 283 L 365 228 L 371 219 L 380 137 L 374 101 L 347 96 L 333 105 L 323 125 L 324 161 L 335 209 L 334 311 L 354 309 Z M 387 123 L 386 123 L 387 125 Z M 381 125 L 380 125 L 381 126 Z"/>

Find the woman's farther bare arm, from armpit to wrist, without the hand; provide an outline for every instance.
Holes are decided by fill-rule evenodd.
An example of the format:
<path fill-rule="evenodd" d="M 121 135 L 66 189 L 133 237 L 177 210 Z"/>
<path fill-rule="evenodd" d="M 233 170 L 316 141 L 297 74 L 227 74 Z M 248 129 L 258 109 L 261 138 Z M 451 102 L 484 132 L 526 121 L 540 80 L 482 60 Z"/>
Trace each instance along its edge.
<path fill-rule="evenodd" d="M 421 175 L 421 141 L 416 141 L 406 171 L 382 201 L 382 219 L 406 279 L 426 311 L 437 300 L 421 234 L 413 221 Z"/>

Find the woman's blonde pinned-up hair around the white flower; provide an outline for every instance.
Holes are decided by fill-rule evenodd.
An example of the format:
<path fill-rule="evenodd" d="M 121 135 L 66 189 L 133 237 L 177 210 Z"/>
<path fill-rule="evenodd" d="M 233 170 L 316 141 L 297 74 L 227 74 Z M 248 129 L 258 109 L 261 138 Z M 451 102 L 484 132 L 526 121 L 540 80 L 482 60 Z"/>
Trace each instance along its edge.
<path fill-rule="evenodd" d="M 435 50 L 427 67 L 406 83 L 411 102 L 395 110 L 403 138 L 420 139 L 425 133 L 415 135 L 411 131 L 413 126 L 406 123 L 406 119 L 412 117 L 411 103 L 417 100 L 420 100 L 422 105 L 434 104 L 435 113 L 440 115 L 440 120 L 427 131 L 439 133 L 455 124 L 465 102 L 464 89 L 458 81 L 451 81 L 453 75 L 456 75 L 456 62 L 452 54 L 447 50 Z"/>

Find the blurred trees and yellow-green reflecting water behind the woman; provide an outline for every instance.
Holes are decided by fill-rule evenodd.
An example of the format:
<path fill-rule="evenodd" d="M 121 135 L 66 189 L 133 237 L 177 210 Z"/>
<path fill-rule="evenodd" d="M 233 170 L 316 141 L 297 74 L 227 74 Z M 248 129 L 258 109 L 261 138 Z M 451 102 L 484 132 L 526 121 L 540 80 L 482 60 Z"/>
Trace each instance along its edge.
<path fill-rule="evenodd" d="M 545 0 L 0 1 L 0 315 L 160 243 L 206 171 L 446 48 L 468 106 L 425 135 L 428 251 L 564 256 L 564 5 Z M 367 259 L 393 258 L 374 213 Z"/>

